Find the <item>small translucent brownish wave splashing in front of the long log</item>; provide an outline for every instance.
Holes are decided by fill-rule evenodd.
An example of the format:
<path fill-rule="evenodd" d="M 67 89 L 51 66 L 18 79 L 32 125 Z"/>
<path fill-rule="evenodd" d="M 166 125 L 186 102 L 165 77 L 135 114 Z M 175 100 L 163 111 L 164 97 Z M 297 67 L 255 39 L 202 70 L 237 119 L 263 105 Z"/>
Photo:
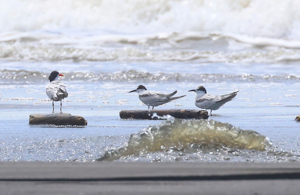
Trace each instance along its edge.
<path fill-rule="evenodd" d="M 252 130 L 242 130 L 214 120 L 180 120 L 169 116 L 158 126 L 150 126 L 119 148 L 108 150 L 98 160 L 119 160 L 148 153 L 180 151 L 205 153 L 211 148 L 264 151 L 270 140 Z"/>

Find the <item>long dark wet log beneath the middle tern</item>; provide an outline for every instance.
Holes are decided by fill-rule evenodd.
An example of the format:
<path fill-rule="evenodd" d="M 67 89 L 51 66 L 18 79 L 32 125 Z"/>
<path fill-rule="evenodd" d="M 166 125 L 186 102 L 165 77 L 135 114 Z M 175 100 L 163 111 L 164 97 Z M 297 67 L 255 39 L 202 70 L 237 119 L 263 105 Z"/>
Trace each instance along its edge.
<path fill-rule="evenodd" d="M 194 109 L 168 109 L 168 110 L 121 110 L 120 118 L 128 119 L 161 119 L 153 117 L 153 113 L 158 116 L 171 115 L 175 118 L 195 118 L 195 119 L 207 119 L 208 112 L 204 110 L 194 110 Z"/>

